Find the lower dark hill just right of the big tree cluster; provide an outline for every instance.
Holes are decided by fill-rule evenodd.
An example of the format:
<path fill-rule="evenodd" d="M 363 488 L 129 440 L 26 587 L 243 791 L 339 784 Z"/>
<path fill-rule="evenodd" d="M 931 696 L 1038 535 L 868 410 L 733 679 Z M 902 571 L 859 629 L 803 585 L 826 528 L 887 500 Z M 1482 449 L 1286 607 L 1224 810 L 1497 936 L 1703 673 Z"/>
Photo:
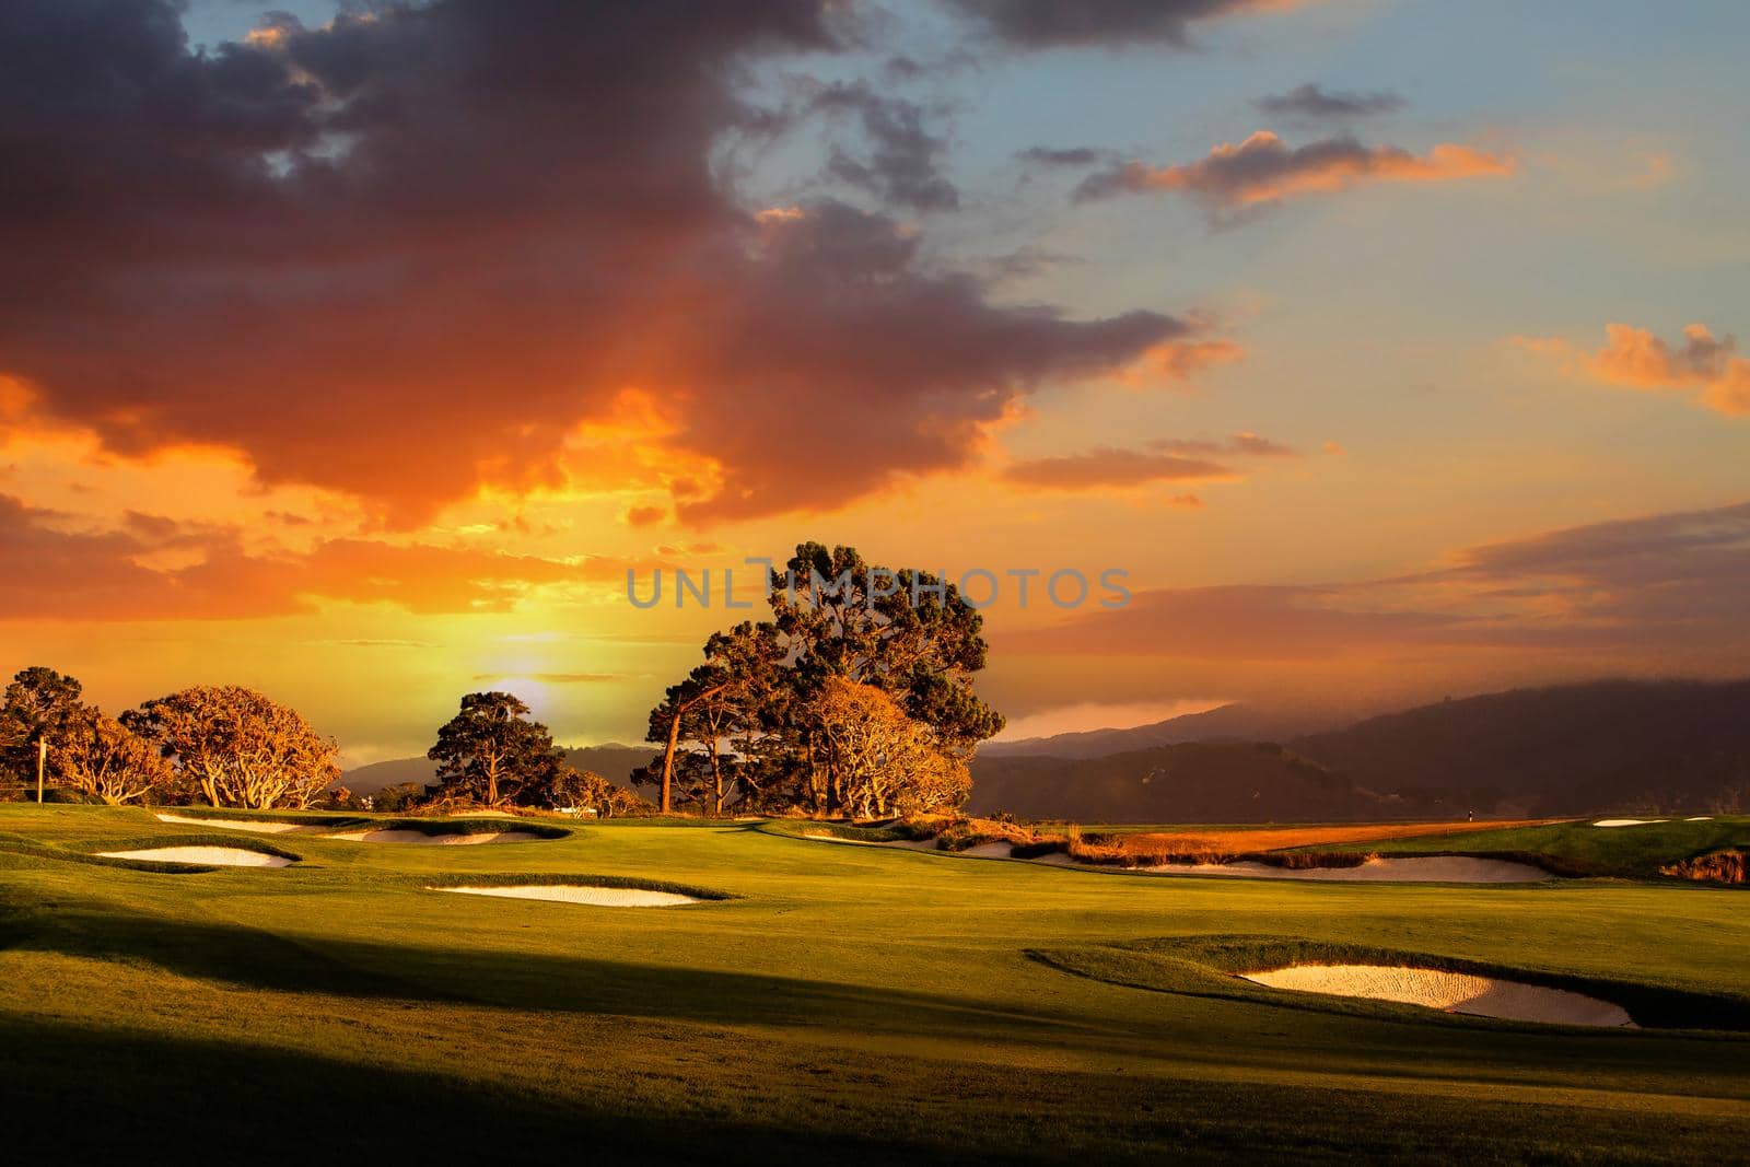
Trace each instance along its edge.
<path fill-rule="evenodd" d="M 1108 758 L 973 759 L 973 814 L 1083 822 L 1391 819 L 1390 798 L 1281 745 L 1181 742 Z"/>

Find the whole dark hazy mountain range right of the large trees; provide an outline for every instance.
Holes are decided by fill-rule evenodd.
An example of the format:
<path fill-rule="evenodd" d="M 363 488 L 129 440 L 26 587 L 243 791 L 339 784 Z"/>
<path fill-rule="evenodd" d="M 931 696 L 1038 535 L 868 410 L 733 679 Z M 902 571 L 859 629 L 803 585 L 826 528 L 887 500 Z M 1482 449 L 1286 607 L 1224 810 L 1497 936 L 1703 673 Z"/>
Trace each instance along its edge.
<path fill-rule="evenodd" d="M 1174 723 L 1183 721 L 1046 742 L 1059 744 L 1054 752 L 1083 749 L 1181 733 Z M 1423 705 L 1298 737 L 1288 749 L 1180 742 L 1085 758 L 987 747 L 973 759 L 970 807 L 1082 821 L 1290 822 L 1472 810 L 1704 814 L 1731 805 L 1734 791 L 1750 803 L 1750 681 L 1610 681 Z"/>

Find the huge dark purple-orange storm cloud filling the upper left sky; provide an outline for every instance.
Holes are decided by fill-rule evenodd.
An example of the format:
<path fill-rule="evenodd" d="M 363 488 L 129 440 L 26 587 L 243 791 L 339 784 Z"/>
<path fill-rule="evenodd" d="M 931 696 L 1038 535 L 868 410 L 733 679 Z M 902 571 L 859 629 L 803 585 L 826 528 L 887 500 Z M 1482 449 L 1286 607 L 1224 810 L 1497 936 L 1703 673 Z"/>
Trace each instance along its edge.
<path fill-rule="evenodd" d="M 1188 331 L 994 304 L 880 215 L 749 215 L 712 152 L 780 119 L 740 77 L 845 12 L 438 0 L 196 52 L 168 0 L 4 3 L 0 374 L 112 451 L 229 446 L 402 523 L 562 485 L 637 387 L 707 518 L 961 465 L 1018 394 Z M 954 203 L 917 107 L 844 100 L 861 185 Z"/>

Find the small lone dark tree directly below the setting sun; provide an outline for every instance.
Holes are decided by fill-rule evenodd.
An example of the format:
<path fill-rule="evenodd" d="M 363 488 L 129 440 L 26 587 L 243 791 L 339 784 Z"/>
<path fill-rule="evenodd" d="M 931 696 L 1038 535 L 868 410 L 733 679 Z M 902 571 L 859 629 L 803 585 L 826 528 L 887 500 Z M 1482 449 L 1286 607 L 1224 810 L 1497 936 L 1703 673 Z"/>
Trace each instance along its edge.
<path fill-rule="evenodd" d="M 528 707 L 509 693 L 469 693 L 460 712 L 438 730 L 425 756 L 438 763 L 441 794 L 467 794 L 497 807 L 544 796 L 565 752 Z"/>

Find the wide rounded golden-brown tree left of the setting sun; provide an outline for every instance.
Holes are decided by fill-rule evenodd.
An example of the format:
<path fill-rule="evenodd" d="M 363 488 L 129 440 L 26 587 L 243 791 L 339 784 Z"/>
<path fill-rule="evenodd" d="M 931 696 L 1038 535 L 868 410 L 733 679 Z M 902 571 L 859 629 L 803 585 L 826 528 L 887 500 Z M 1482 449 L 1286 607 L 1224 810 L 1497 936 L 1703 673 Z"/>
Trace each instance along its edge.
<path fill-rule="evenodd" d="M 303 716 L 234 684 L 145 702 L 122 724 L 158 745 L 214 807 L 304 810 L 340 779 L 332 738 Z"/>

